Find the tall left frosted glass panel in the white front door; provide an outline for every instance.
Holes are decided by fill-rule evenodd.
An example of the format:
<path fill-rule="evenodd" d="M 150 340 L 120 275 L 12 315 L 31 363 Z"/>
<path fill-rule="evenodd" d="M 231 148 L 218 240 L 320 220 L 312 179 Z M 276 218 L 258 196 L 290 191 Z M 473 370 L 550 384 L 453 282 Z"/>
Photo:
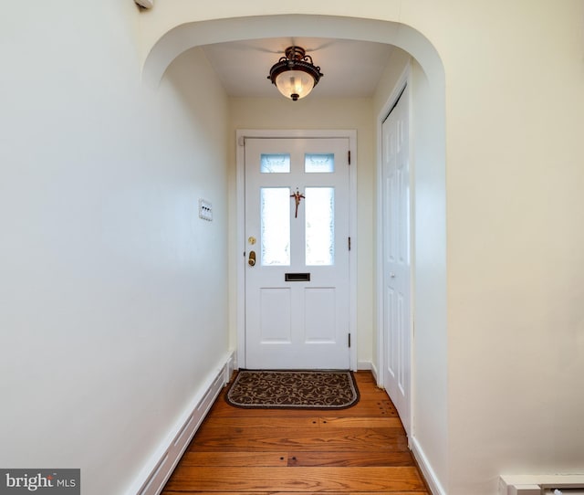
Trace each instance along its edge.
<path fill-rule="evenodd" d="M 290 264 L 290 188 L 260 190 L 262 265 Z"/>

